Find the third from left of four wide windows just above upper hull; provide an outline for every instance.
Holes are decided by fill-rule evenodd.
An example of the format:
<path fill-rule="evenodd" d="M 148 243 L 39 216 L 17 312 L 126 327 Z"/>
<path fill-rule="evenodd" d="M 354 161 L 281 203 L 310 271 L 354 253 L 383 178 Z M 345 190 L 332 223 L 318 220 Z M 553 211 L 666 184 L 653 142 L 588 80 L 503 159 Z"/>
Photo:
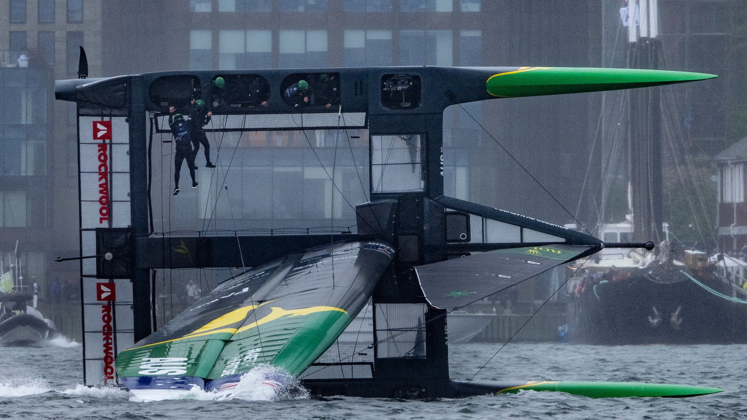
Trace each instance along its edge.
<path fill-rule="evenodd" d="M 344 32 L 346 67 L 391 66 L 391 31 Z"/>

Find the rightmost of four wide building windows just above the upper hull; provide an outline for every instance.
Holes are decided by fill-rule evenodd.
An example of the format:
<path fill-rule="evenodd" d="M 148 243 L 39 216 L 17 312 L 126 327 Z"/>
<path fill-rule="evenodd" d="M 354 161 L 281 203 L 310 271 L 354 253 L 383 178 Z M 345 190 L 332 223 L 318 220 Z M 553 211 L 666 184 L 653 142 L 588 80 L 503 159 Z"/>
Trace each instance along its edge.
<path fill-rule="evenodd" d="M 453 65 L 451 31 L 400 31 L 400 65 Z"/>

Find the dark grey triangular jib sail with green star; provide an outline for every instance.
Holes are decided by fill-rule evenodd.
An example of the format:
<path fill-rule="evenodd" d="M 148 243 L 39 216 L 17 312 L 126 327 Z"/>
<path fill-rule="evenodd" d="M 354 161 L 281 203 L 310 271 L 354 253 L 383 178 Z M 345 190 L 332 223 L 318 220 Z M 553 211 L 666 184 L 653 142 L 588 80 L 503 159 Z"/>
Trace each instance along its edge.
<path fill-rule="evenodd" d="M 415 268 L 432 306 L 454 309 L 593 253 L 596 247 L 554 244 L 494 250 Z"/>

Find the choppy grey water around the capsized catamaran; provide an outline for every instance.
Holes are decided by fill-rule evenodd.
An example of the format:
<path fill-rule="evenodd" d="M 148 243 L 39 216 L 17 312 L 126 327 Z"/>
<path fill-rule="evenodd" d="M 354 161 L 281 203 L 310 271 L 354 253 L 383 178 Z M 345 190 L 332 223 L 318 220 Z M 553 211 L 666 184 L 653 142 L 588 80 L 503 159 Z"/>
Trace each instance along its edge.
<path fill-rule="evenodd" d="M 451 346 L 451 375 L 471 377 L 498 347 Z M 716 386 L 695 398 L 591 399 L 557 392 L 437 401 L 334 398 L 291 401 L 130 401 L 81 383 L 81 346 L 0 348 L 0 418 L 7 419 L 744 419 L 747 345 L 508 345 L 483 380 L 608 380 Z"/>

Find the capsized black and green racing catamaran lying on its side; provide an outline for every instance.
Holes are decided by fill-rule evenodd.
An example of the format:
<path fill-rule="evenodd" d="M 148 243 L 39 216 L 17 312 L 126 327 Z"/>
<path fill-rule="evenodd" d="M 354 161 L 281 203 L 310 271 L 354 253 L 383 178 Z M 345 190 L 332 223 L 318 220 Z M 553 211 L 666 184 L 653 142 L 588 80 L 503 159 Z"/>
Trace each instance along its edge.
<path fill-rule="evenodd" d="M 120 381 L 144 399 L 195 388 L 225 396 L 242 375 L 270 365 L 276 370 L 263 374 L 264 386 L 282 388 L 289 377 L 300 377 L 319 395 L 432 398 L 536 389 L 592 397 L 683 397 L 720 391 L 450 380 L 449 310 L 612 244 L 444 197 L 442 147 L 442 115 L 449 105 L 715 75 L 368 67 L 86 78 L 83 65 L 80 73 L 80 79 L 57 81 L 55 89 L 57 99 L 78 104 L 81 255 L 113 256 L 95 263 L 81 259 L 87 384 Z M 318 235 L 156 234 L 149 220 L 149 130 L 169 132 L 164 127 L 170 107 L 189 114 L 193 99 L 207 102 L 218 121 L 206 131 L 367 129 L 370 200 L 355 207 L 357 232 L 330 227 Z M 328 176 L 338 188 L 335 176 Z M 211 267 L 244 269 L 154 332 L 152 270 Z M 356 328 L 369 337 L 368 345 L 323 362 L 320 356 L 363 308 L 371 308 L 373 322 Z M 337 373 L 312 374 L 320 371 Z"/>

